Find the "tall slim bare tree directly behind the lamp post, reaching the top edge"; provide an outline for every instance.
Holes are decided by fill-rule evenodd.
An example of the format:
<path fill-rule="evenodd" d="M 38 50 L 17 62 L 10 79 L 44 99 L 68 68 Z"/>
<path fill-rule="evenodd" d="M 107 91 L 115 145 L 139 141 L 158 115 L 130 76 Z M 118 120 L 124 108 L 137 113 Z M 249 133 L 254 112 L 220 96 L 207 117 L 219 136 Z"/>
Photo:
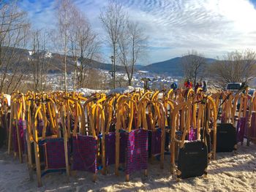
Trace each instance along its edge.
<path fill-rule="evenodd" d="M 107 31 L 110 47 L 113 52 L 113 88 L 115 88 L 116 79 L 116 56 L 118 40 L 124 33 L 124 26 L 127 22 L 127 13 L 121 4 L 116 0 L 108 1 L 108 6 L 102 9 L 99 15 L 100 20 Z"/>

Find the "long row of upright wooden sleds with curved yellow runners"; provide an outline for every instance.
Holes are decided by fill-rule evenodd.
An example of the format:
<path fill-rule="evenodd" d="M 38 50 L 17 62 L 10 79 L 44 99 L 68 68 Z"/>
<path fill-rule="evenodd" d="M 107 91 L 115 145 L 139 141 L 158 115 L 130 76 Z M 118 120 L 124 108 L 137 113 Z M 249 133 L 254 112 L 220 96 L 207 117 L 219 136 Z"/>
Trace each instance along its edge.
<path fill-rule="evenodd" d="M 255 110 L 247 90 L 12 93 L 10 106 L 2 94 L 0 147 L 26 160 L 38 186 L 49 172 L 91 172 L 95 181 L 110 166 L 129 181 L 132 172 L 147 175 L 151 161 L 180 180 L 206 176 L 216 153 L 254 141 Z"/>

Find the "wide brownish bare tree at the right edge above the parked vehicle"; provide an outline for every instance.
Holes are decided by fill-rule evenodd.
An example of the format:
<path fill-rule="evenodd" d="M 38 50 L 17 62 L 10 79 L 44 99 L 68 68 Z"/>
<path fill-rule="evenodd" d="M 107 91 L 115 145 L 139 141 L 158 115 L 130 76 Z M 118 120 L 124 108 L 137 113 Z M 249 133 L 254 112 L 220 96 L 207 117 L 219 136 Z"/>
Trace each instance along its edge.
<path fill-rule="evenodd" d="M 249 82 L 256 77 L 256 53 L 253 50 L 235 51 L 223 55 L 212 64 L 209 74 L 223 88 L 228 82 Z"/>

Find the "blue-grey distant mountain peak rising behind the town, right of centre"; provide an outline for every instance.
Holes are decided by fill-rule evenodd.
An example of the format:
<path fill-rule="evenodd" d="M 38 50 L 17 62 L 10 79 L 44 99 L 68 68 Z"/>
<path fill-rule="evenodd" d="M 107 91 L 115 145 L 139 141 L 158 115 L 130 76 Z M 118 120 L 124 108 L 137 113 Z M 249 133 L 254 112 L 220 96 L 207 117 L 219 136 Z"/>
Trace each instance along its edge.
<path fill-rule="evenodd" d="M 157 74 L 169 74 L 172 76 L 182 76 L 183 69 L 182 69 L 182 60 L 188 56 L 184 57 L 176 57 L 169 59 L 167 61 L 161 61 L 154 64 L 150 64 L 148 66 L 144 66 L 140 70 L 148 71 Z M 207 64 L 212 64 L 216 61 L 213 58 L 206 58 Z"/>

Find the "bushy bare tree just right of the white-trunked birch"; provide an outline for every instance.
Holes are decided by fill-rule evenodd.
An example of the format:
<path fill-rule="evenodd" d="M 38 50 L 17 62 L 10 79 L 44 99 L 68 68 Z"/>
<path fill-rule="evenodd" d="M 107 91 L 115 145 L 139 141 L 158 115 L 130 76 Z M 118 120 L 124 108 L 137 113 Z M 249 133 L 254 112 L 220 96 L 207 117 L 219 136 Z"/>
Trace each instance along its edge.
<path fill-rule="evenodd" d="M 78 9 L 73 10 L 73 19 L 70 36 L 70 50 L 75 64 L 73 89 L 85 87 L 89 81 L 89 69 L 95 62 L 99 51 L 97 35 L 85 15 Z M 77 82 L 77 83 L 76 83 Z"/>

